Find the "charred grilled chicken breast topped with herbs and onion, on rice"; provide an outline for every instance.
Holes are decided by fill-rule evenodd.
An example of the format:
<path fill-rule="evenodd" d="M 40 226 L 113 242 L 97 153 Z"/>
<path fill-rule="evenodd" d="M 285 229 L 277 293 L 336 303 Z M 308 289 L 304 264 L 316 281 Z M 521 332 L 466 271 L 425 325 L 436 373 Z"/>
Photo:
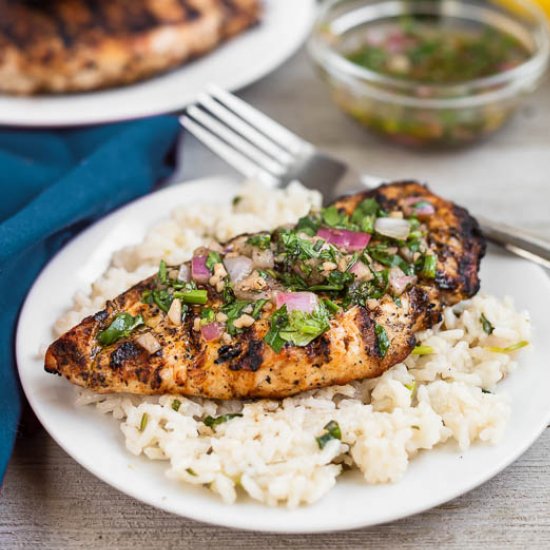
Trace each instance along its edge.
<path fill-rule="evenodd" d="M 410 248 L 402 253 L 412 262 L 411 266 L 416 262 L 416 274 L 411 274 L 412 271 L 405 274 L 408 268 L 403 257 L 395 252 L 394 241 L 388 237 L 373 235 L 367 248 L 359 252 L 357 247 L 344 243 L 345 250 L 339 250 L 338 255 L 335 252 L 338 247 L 327 242 L 331 243 L 330 235 L 349 237 L 349 233 L 340 229 L 330 229 L 332 233 L 329 237 L 324 236 L 326 240 L 318 236 L 322 232 L 317 229 L 318 234 L 310 236 L 308 241 L 301 229 L 286 228 L 270 235 L 270 248 L 265 247 L 266 234 L 237 237 L 220 248 L 218 259 L 221 257 L 225 265 L 229 265 L 229 258 L 243 261 L 248 254 L 265 267 L 266 254 L 269 256 L 272 252 L 273 261 L 270 264 L 268 259 L 267 264 L 273 268 L 265 267 L 269 273 L 254 270 L 244 279 L 242 274 L 240 280 L 235 277 L 237 282 L 231 283 L 234 272 L 222 278 L 224 271 L 220 262 L 211 268 L 213 274 L 209 282 L 198 285 L 199 292 L 201 289 L 207 291 L 207 304 L 188 305 L 184 316 L 178 306 L 178 317 L 174 317 L 173 302 L 167 314 L 159 307 L 161 301 L 150 299 L 150 293 L 160 292 L 159 277 L 164 278 L 166 288 L 170 272 L 181 274 L 182 270 L 184 273 L 191 270 L 194 273 L 195 264 L 191 268 L 184 265 L 179 271 L 168 268 L 168 275 L 159 272 L 142 281 L 54 342 L 47 351 L 45 369 L 97 392 L 173 393 L 219 399 L 284 398 L 304 390 L 379 376 L 411 353 L 415 332 L 439 322 L 443 306 L 478 291 L 479 262 L 485 244 L 477 222 L 466 210 L 433 195 L 416 182 L 383 185 L 374 191 L 344 197 L 336 201 L 335 208 L 301 221 L 298 228 L 313 222 L 322 225 L 325 219 L 332 223 L 334 219 L 329 218 L 335 215 L 341 217 L 338 223 L 359 223 L 361 216 L 354 216 L 354 212 L 367 212 L 369 208 L 372 212 L 373 204 L 379 208 L 376 215 L 386 220 L 384 223 L 392 219 L 403 222 L 401 216 L 405 216 L 410 220 L 410 229 L 416 228 L 416 233 L 410 232 L 406 241 L 395 241 L 403 249 L 405 244 Z M 380 228 L 382 230 L 382 226 Z M 365 233 L 362 235 L 364 237 Z M 296 241 L 296 237 L 302 240 Z M 261 242 L 263 249 L 257 247 Z M 290 258 L 289 247 L 296 242 L 310 250 L 310 256 L 317 254 L 324 258 L 333 254 L 341 265 L 334 267 L 332 264 L 336 262 L 321 259 L 317 270 L 312 268 L 306 276 L 306 265 L 317 264 L 309 259 L 304 262 L 297 259 L 298 256 Z M 313 243 L 311 249 L 308 249 L 308 242 Z M 350 253 L 350 248 L 356 251 Z M 289 259 L 295 263 L 290 265 Z M 365 269 L 366 262 L 371 262 L 370 271 Z M 358 265 L 361 269 L 357 269 Z M 432 265 L 433 269 L 426 270 L 427 265 Z M 392 278 L 395 272 L 399 274 Z M 255 288 L 258 273 L 263 283 Z M 290 301 L 284 308 L 280 305 L 281 296 L 288 300 L 289 294 L 293 298 L 300 293 L 302 297 L 311 298 L 309 291 L 287 292 L 289 286 L 303 284 L 304 279 L 307 285 L 304 288 L 320 289 L 314 295 L 320 304 L 317 307 L 326 309 L 330 305 L 327 325 L 309 342 L 309 336 L 300 341 L 297 333 L 289 333 L 288 327 L 283 328 L 281 330 L 287 332 L 275 336 L 287 339 L 280 340 L 277 346 L 274 344 L 277 315 L 282 309 L 288 309 L 285 322 L 294 315 L 290 313 Z M 344 290 L 329 289 L 335 287 L 335 281 L 344 279 L 349 279 Z M 378 283 L 382 291 L 376 286 Z M 233 321 L 233 325 L 227 312 L 241 302 L 227 305 L 228 288 L 243 304 L 248 302 L 242 298 L 251 299 L 243 310 L 248 314 L 241 311 L 237 319 L 240 322 Z M 197 293 L 196 290 L 186 292 Z M 164 309 L 168 309 L 167 304 Z M 121 312 L 129 314 L 130 319 L 141 316 L 144 322 L 116 341 L 100 344 L 99 340 L 104 339 L 105 331 L 113 326 L 113 320 Z M 209 337 L 201 320 L 208 317 L 205 313 L 211 316 L 208 326 L 216 324 L 211 322 L 215 314 L 217 325 L 225 326 L 231 334 Z M 302 320 L 311 320 L 316 313 L 299 312 L 297 315 Z M 299 336 L 304 334 L 309 332 Z"/>

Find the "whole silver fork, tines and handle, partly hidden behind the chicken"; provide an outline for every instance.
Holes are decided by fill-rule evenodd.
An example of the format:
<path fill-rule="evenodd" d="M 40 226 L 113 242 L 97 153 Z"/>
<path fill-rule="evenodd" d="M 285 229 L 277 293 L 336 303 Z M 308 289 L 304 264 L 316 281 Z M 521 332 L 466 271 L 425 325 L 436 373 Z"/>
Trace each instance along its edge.
<path fill-rule="evenodd" d="M 181 124 L 247 178 L 286 187 L 294 180 L 320 191 L 325 203 L 372 188 L 382 178 L 357 174 L 242 99 L 210 87 L 185 110 Z M 550 242 L 521 229 L 476 216 L 485 237 L 510 252 L 550 269 Z"/>

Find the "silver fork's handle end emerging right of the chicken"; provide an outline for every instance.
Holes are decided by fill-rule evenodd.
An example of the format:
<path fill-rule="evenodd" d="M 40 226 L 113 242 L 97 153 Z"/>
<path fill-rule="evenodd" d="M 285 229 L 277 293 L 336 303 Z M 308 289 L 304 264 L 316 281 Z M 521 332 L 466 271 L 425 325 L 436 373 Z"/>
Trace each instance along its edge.
<path fill-rule="evenodd" d="M 476 216 L 488 241 L 550 269 L 550 241 L 535 237 L 517 227 Z"/>

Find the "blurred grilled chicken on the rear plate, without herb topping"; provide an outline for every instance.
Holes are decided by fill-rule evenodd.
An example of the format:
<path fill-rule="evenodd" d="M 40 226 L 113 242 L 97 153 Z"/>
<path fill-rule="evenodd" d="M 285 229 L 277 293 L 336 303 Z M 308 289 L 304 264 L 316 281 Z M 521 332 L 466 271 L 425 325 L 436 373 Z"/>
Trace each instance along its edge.
<path fill-rule="evenodd" d="M 0 0 L 0 91 L 129 84 L 254 25 L 259 0 Z"/>

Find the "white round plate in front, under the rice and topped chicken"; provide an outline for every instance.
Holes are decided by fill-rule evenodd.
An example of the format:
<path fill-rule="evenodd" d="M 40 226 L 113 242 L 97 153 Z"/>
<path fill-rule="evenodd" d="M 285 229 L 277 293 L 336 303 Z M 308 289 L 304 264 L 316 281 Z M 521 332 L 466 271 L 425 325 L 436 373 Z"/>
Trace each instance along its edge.
<path fill-rule="evenodd" d="M 367 485 L 358 474 L 344 474 L 322 500 L 295 510 L 269 508 L 252 500 L 224 504 L 200 487 L 170 481 L 166 464 L 126 451 L 119 422 L 95 407 L 74 405 L 75 390 L 47 374 L 39 348 L 52 339 L 51 327 L 77 290 L 86 291 L 105 270 L 111 254 L 139 242 L 177 204 L 224 203 L 239 185 L 210 178 L 159 191 L 111 214 L 79 235 L 55 256 L 29 293 L 17 342 L 19 374 L 27 398 L 51 436 L 77 462 L 106 483 L 147 504 L 200 521 L 261 531 L 316 532 L 351 529 L 421 512 L 473 489 L 516 460 L 550 421 L 550 282 L 539 267 L 490 251 L 481 270 L 482 290 L 511 295 L 529 310 L 533 345 L 521 353 L 520 367 L 499 385 L 509 395 L 512 416 L 501 443 L 424 451 L 404 478 L 391 485 Z M 535 475 L 535 472 L 533 472 Z"/>

